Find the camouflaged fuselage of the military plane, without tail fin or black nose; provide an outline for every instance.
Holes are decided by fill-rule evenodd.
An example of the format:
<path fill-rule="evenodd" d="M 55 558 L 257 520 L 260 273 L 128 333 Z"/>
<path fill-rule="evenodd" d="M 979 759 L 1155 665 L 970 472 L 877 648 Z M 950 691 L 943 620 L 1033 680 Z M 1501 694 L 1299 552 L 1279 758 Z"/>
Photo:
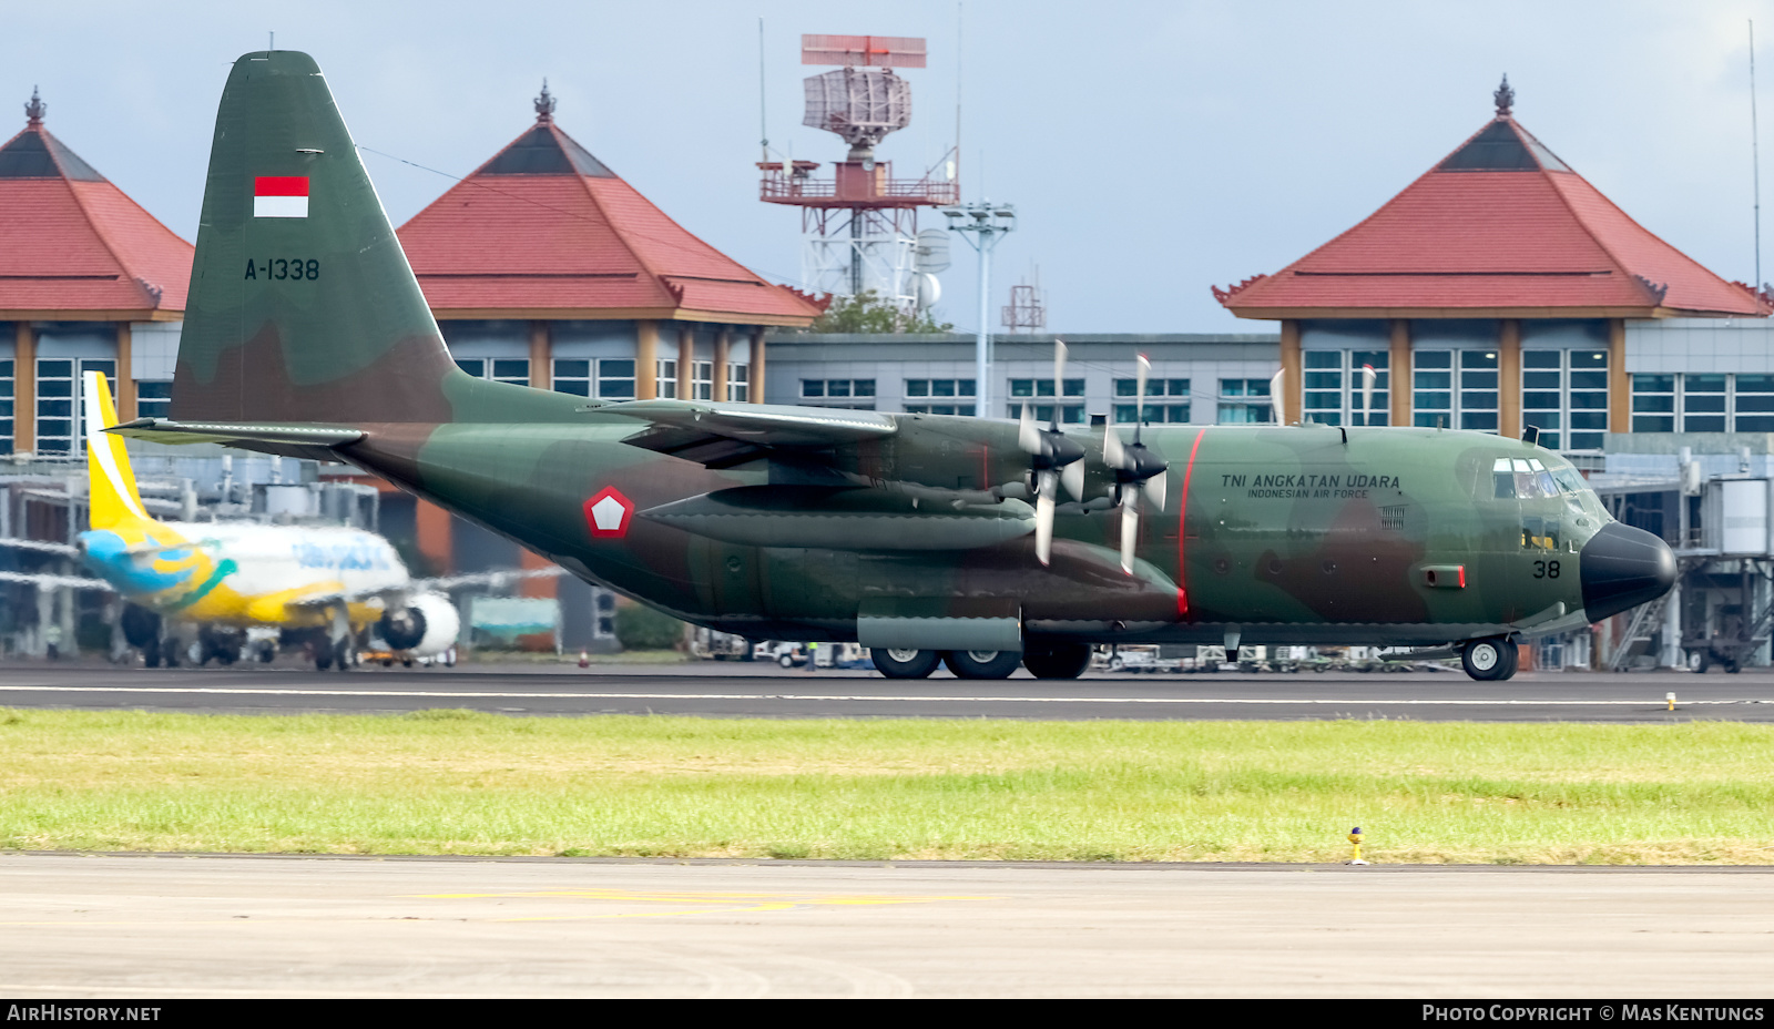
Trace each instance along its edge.
<path fill-rule="evenodd" d="M 530 394 L 500 397 L 513 405 L 545 399 L 495 389 Z M 454 422 L 422 438 L 367 426 L 341 454 L 587 580 L 754 639 L 855 639 L 859 610 L 882 601 L 1006 610 L 1031 635 L 1098 642 L 1219 642 L 1228 630 L 1247 642 L 1446 642 L 1535 616 L 1568 628 L 1582 609 L 1577 550 L 1605 522 L 1586 490 L 1497 499 L 1499 458 L 1568 465 L 1490 435 L 1354 429 L 1345 442 L 1322 426 L 1187 426 L 1148 429 L 1171 497 L 1141 520 L 1132 575 L 1100 461 L 1087 495 L 1103 500 L 1061 504 L 1043 568 L 1027 506 L 965 502 L 1022 479 L 1011 422 L 898 415 L 894 436 L 820 454 L 846 477 L 820 484 L 804 456 L 711 470 L 624 444 L 633 419 L 546 399 L 562 420 Z M 1102 452 L 1102 429 L 1077 436 Z M 607 490 L 633 513 L 596 534 L 585 504 Z M 1430 585 L 1432 568 L 1464 569 L 1464 585 Z"/>

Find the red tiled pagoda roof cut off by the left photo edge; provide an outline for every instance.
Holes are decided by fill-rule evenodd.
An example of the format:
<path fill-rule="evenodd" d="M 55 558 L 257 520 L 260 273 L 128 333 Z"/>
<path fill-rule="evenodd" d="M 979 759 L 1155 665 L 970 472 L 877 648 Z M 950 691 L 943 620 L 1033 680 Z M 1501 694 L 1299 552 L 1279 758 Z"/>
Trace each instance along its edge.
<path fill-rule="evenodd" d="M 35 117 L 0 145 L 0 319 L 176 319 L 192 254 Z"/>

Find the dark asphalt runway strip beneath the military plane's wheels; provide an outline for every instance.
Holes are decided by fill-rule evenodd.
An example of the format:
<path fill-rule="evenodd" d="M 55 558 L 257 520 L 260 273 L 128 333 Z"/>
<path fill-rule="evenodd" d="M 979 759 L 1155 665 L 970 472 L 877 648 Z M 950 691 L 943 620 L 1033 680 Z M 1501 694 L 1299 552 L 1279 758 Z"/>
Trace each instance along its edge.
<path fill-rule="evenodd" d="M 745 669 L 736 672 L 736 669 Z M 1668 694 L 1676 695 L 1671 711 Z M 0 665 L 0 706 L 303 713 L 472 708 L 509 715 L 869 719 L 1409 719 L 1421 722 L 1774 722 L 1774 676 L 1456 672 L 887 679 L 701 662 L 663 667 L 121 669 Z"/>

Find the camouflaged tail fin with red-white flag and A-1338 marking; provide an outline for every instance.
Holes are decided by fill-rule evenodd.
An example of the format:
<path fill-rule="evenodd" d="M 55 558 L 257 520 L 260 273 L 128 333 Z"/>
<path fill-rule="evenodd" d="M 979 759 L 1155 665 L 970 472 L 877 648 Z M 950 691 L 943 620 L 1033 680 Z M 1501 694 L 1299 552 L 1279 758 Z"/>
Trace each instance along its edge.
<path fill-rule="evenodd" d="M 452 374 L 319 66 L 243 55 L 216 112 L 172 419 L 449 422 Z"/>

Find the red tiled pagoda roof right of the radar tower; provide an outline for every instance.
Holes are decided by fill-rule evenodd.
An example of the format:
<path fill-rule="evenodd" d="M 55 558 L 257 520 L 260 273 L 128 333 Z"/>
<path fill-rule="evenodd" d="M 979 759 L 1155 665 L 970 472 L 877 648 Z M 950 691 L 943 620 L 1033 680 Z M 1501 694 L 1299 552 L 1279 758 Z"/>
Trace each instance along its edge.
<path fill-rule="evenodd" d="M 1506 112 L 1354 229 L 1213 295 L 1238 318 L 1767 316 Z"/>

